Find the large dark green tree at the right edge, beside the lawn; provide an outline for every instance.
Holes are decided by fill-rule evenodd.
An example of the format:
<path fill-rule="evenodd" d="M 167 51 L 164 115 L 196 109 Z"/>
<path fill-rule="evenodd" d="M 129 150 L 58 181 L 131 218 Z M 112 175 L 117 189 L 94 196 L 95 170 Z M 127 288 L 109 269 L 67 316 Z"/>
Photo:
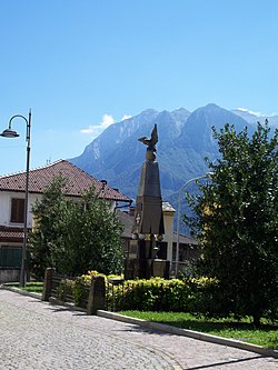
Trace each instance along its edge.
<path fill-rule="evenodd" d="M 226 124 L 214 129 L 220 159 L 211 182 L 188 196 L 187 219 L 199 239 L 199 273 L 216 278 L 222 313 L 278 316 L 278 130 L 258 123 L 248 137 Z M 219 294 L 219 291 L 218 291 Z"/>

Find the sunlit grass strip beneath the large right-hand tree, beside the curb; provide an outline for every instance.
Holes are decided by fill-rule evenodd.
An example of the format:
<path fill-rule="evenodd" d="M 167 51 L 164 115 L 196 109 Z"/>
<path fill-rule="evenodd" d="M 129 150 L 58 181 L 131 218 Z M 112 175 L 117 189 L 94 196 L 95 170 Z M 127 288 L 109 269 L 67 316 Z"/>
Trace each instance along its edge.
<path fill-rule="evenodd" d="M 265 321 L 260 328 L 255 328 L 250 319 L 245 319 L 240 322 L 232 318 L 209 320 L 183 312 L 121 311 L 118 313 L 148 321 L 161 322 L 182 329 L 237 339 L 266 348 L 278 349 L 277 323 L 271 324 L 270 322 Z"/>

